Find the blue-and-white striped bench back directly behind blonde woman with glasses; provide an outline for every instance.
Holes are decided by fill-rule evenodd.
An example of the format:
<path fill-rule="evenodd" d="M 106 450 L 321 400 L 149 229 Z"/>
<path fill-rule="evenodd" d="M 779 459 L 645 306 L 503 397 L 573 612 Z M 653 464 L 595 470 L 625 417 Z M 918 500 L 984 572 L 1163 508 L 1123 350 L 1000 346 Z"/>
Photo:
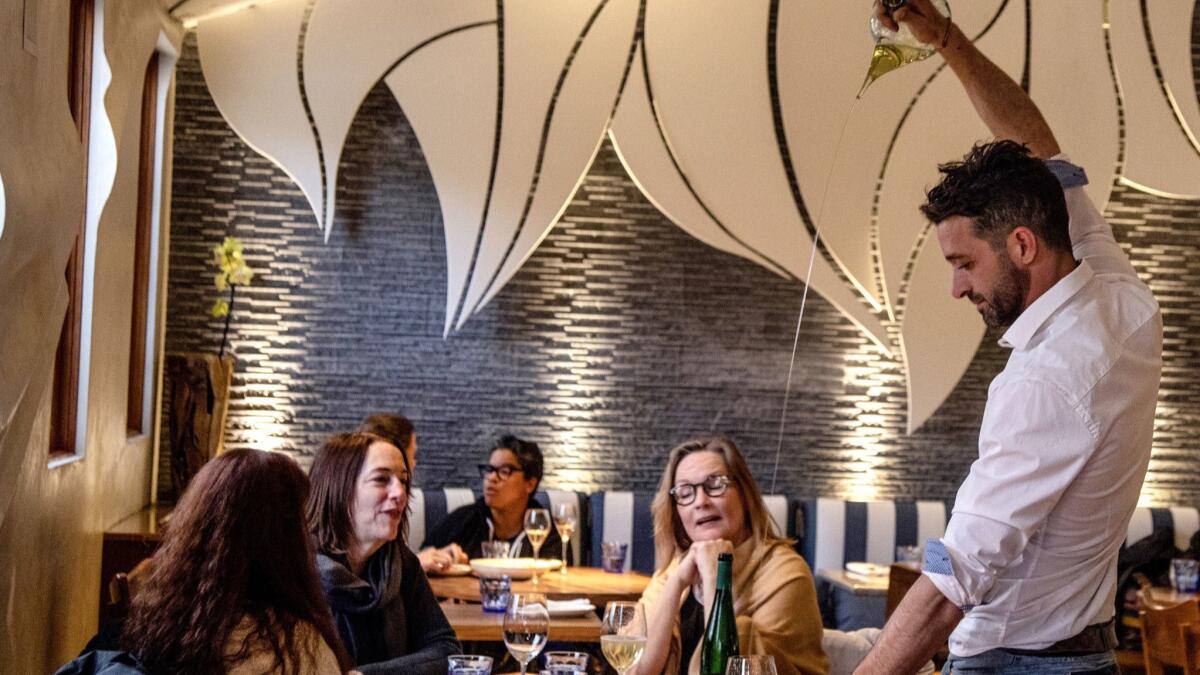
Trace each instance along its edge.
<path fill-rule="evenodd" d="M 654 573 L 654 518 L 650 503 L 654 492 L 610 490 L 590 497 L 592 561 L 600 565 L 600 544 L 629 544 L 625 572 Z M 763 501 L 778 533 L 790 537 L 796 530 L 796 512 L 782 495 L 766 495 Z"/>

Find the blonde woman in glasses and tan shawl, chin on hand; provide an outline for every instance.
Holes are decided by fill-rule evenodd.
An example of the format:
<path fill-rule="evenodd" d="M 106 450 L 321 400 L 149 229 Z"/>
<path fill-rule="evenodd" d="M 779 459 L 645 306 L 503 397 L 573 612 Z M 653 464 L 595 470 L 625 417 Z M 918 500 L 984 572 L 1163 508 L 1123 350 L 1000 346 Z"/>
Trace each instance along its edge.
<path fill-rule="evenodd" d="M 634 673 L 700 673 L 721 552 L 733 554 L 742 655 L 773 656 L 779 675 L 827 673 L 812 573 L 792 543 L 775 534 L 732 441 L 701 438 L 673 448 L 652 510 L 658 569 L 642 595 L 648 634 Z"/>

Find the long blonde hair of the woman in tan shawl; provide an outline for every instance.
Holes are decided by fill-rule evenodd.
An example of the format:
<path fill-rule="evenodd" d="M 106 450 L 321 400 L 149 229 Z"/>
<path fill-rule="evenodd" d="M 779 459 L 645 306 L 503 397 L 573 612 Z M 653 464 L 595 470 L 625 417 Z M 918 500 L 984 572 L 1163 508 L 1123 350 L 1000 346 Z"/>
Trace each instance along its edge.
<path fill-rule="evenodd" d="M 674 486 L 674 474 L 679 462 L 692 453 L 716 453 L 725 460 L 725 467 L 733 483 L 732 486 L 740 490 L 742 503 L 745 506 L 745 522 L 750 526 L 750 537 L 755 542 L 760 544 L 786 542 L 782 537 L 776 536 L 772 528 L 767 504 L 762 501 L 762 491 L 758 490 L 758 484 L 750 473 L 746 460 L 733 441 L 721 436 L 696 438 L 671 449 L 667 455 L 667 466 L 662 471 L 662 479 L 659 480 L 659 491 L 654 495 L 654 503 L 650 506 L 654 514 L 655 569 L 662 571 L 677 555 L 691 546 L 688 531 L 684 530 L 683 521 L 679 520 L 674 498 L 671 497 L 671 488 Z"/>

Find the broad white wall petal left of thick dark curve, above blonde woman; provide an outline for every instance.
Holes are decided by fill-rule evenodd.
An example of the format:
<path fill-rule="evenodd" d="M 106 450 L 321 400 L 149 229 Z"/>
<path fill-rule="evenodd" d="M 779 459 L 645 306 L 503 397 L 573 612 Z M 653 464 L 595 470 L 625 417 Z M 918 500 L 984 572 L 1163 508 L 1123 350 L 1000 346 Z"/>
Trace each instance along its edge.
<path fill-rule="evenodd" d="M 775 135 L 769 10 L 766 2 L 724 2 L 704 12 L 648 5 L 641 62 L 611 133 L 634 180 L 677 225 L 804 280 L 812 239 Z M 878 317 L 821 256 L 812 287 L 890 352 Z"/>

